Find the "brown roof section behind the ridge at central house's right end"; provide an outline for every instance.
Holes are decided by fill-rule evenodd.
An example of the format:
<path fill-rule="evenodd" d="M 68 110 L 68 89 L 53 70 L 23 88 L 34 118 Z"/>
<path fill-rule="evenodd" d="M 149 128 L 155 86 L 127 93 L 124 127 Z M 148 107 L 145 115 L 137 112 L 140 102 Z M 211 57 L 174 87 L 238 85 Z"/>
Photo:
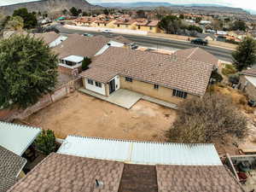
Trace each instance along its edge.
<path fill-rule="evenodd" d="M 218 66 L 218 58 L 204 49 L 201 48 L 191 48 L 191 49 L 181 49 L 177 50 L 175 54 L 178 57 L 183 57 L 190 60 L 201 61 L 206 63 L 212 63 L 215 66 Z"/>

